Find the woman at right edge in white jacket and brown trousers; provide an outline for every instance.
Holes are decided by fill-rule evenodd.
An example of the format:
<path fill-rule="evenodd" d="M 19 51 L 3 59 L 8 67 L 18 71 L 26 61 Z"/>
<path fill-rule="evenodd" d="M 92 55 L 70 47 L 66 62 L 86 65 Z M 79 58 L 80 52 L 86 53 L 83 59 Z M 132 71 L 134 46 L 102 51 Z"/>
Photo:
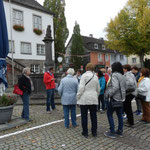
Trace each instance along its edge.
<path fill-rule="evenodd" d="M 141 70 L 140 79 L 138 82 L 137 92 L 142 104 L 143 115 L 142 120 L 145 124 L 150 124 L 150 79 L 149 79 L 149 69 L 143 68 Z M 137 97 L 138 97 L 137 95 Z"/>

